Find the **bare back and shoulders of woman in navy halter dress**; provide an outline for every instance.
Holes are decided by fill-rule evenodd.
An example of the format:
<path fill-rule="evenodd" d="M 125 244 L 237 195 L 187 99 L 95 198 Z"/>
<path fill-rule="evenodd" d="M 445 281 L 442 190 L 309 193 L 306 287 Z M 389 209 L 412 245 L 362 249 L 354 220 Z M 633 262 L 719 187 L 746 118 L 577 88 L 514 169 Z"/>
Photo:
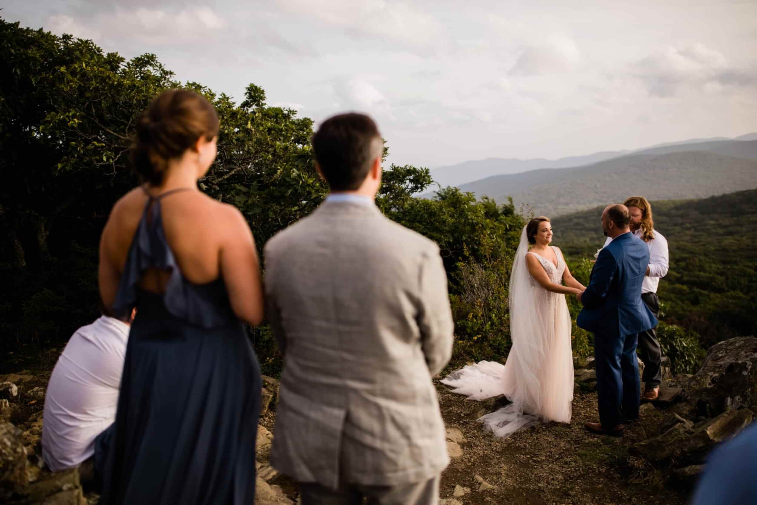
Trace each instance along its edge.
<path fill-rule="evenodd" d="M 198 285 L 223 276 L 229 300 L 238 316 L 251 322 L 257 320 L 258 317 L 249 310 L 250 301 L 241 299 L 252 297 L 260 301 L 262 298 L 260 289 L 255 288 L 260 282 L 257 252 L 244 218 L 235 207 L 221 204 L 197 189 L 177 189 L 175 192 L 172 190 L 170 195 L 167 193 L 167 190 L 138 187 L 114 205 L 101 239 L 101 293 L 104 303 L 111 306 L 114 302 L 118 281 L 145 207 L 148 204 L 160 205 L 166 241 L 182 276 Z M 103 270 L 107 270 L 108 266 L 111 276 L 103 275 Z M 165 291 L 169 276 L 170 272 L 148 270 L 139 285 L 148 291 L 161 293 Z M 262 318 L 262 305 L 260 307 Z M 253 312 L 257 313 L 258 310 Z"/>

